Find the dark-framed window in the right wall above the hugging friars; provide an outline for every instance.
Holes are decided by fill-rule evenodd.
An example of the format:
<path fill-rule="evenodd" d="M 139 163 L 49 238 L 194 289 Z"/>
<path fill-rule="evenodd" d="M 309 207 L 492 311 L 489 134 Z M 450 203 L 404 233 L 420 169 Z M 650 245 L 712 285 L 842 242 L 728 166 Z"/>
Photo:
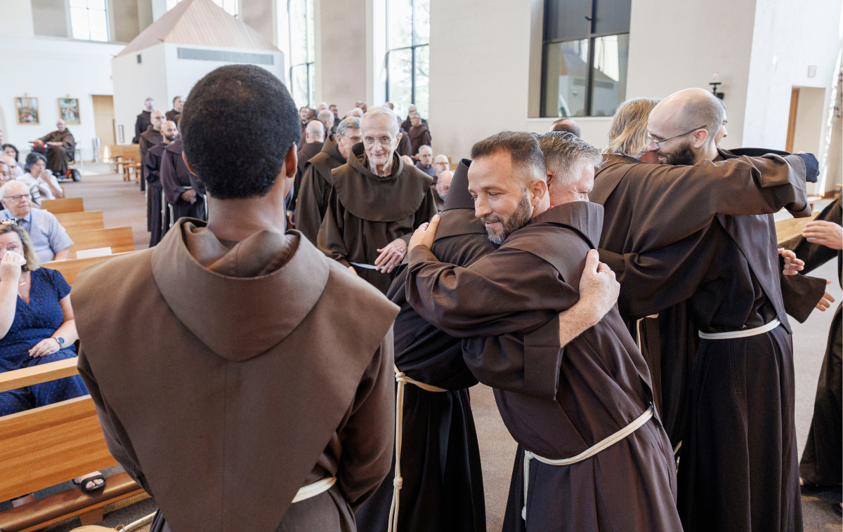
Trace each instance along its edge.
<path fill-rule="evenodd" d="M 611 116 L 626 99 L 631 0 L 545 0 L 542 116 Z"/>

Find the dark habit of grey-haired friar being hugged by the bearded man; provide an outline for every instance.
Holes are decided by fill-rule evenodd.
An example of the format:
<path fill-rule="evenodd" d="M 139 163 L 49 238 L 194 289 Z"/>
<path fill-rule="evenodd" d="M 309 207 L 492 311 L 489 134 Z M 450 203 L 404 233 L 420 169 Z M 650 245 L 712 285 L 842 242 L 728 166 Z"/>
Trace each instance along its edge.
<path fill-rule="evenodd" d="M 454 172 L 448 204 L 432 251 L 444 261 L 468 266 L 495 250 L 474 215 L 468 191 L 468 164 Z M 434 327 L 406 300 L 404 269 L 387 296 L 400 306 L 395 319 L 395 365 L 413 380 L 447 391 L 405 385 L 398 530 L 485 532 L 480 447 L 471 415 L 468 388 L 477 383 L 463 360 L 459 338 Z M 383 532 L 389 525 L 393 469 L 357 511 L 360 532 Z"/>

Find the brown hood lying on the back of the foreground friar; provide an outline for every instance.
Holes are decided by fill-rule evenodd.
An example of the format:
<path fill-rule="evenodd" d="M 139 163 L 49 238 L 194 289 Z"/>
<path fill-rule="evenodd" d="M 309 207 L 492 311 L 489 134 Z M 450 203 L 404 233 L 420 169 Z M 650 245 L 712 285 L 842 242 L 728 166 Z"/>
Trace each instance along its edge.
<path fill-rule="evenodd" d="M 235 362 L 287 338 L 319 301 L 329 274 L 325 256 L 298 231 L 260 231 L 229 250 L 205 222 L 189 218 L 155 247 L 152 268 L 179 321 Z"/>

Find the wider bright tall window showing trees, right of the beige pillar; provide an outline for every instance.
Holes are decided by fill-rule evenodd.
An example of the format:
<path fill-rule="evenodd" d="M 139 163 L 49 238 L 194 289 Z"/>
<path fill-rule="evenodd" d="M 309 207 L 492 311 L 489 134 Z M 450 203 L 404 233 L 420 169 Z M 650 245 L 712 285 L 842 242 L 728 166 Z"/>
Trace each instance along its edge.
<path fill-rule="evenodd" d="M 430 100 L 430 0 L 387 0 L 386 99 L 395 114 L 410 104 L 427 117 Z"/>

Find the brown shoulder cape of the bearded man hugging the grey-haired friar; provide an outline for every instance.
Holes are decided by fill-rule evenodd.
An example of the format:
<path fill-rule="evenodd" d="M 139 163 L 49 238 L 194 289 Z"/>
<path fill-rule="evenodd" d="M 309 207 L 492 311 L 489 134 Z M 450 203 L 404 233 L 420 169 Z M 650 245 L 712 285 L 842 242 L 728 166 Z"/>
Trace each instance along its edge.
<path fill-rule="evenodd" d="M 569 231 L 552 231 L 552 228 Z M 548 229 L 551 229 L 550 233 Z M 572 201 L 556 205 L 536 216 L 529 223 L 513 232 L 501 248 L 509 247 L 533 253 L 559 272 L 567 272 L 573 262 L 579 264 L 584 257 L 572 258 L 571 250 L 582 246 L 597 249 L 603 231 L 603 205 L 590 201 Z M 566 279 L 571 282 L 572 279 Z"/>

